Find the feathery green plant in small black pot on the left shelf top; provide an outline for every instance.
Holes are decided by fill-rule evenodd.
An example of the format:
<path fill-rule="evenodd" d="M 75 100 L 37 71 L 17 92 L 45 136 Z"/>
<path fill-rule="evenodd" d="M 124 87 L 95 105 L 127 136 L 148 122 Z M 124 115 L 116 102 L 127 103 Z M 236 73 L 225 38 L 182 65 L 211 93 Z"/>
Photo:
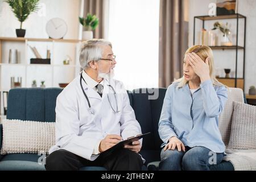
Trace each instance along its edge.
<path fill-rule="evenodd" d="M 9 3 L 14 15 L 20 22 L 20 28 L 16 29 L 17 37 L 24 37 L 26 30 L 22 29 L 22 23 L 30 13 L 38 10 L 39 0 L 5 0 L 5 2 Z"/>

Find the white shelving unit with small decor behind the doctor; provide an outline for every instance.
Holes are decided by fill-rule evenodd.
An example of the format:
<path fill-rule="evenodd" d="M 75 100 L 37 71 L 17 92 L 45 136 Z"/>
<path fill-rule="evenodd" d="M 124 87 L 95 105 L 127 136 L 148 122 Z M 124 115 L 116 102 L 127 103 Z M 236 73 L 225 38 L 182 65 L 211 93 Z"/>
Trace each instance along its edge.
<path fill-rule="evenodd" d="M 47 49 L 51 51 L 51 64 L 30 64 L 35 58 L 28 47 L 36 47 L 42 58 L 46 58 Z M 59 83 L 71 82 L 80 72 L 79 49 L 81 40 L 75 39 L 36 39 L 0 37 L 0 115 L 3 114 L 2 92 L 11 89 L 11 77 L 22 77 L 22 87 L 30 88 L 32 80 L 46 81 L 46 87 L 59 87 Z M 9 63 L 9 50 L 18 50 L 18 63 Z M 69 65 L 63 60 L 71 57 Z M 16 81 L 16 80 L 15 80 Z"/>

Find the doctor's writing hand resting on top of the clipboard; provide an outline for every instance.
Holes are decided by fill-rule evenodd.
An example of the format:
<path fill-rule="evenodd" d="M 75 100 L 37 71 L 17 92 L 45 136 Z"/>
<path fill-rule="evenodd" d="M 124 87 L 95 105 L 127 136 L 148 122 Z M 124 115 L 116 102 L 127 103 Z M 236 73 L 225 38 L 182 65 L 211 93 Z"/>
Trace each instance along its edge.
<path fill-rule="evenodd" d="M 115 144 L 120 142 L 122 137 L 119 135 L 106 135 L 106 137 L 101 140 L 100 146 L 98 146 L 98 151 L 104 152 L 108 150 L 110 147 L 113 147 Z"/>

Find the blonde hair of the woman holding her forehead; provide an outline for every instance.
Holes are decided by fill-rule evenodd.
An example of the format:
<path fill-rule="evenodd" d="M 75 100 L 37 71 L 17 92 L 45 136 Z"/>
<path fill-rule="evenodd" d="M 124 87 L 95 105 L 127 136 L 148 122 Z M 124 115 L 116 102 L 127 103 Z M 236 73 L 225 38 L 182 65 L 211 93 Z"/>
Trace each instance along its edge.
<path fill-rule="evenodd" d="M 195 45 L 187 49 L 184 55 L 185 56 L 188 53 L 195 52 L 204 62 L 209 57 L 209 69 L 210 69 L 210 80 L 212 80 L 213 86 L 225 86 L 224 84 L 221 84 L 219 82 L 214 74 L 214 62 L 213 62 L 213 53 L 212 49 L 208 46 L 203 46 L 203 45 Z M 176 80 L 175 82 L 179 82 L 177 88 L 183 87 L 185 84 L 187 84 L 187 80 L 185 80 L 184 76 Z"/>

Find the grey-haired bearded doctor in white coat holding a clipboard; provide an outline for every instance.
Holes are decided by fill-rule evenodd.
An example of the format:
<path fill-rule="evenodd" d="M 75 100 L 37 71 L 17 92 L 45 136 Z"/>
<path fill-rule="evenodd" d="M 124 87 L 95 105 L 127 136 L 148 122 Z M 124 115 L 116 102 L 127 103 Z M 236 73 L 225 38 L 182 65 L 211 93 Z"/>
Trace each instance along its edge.
<path fill-rule="evenodd" d="M 122 139 L 141 134 L 126 90 L 112 79 L 116 64 L 112 44 L 103 39 L 84 42 L 80 64 L 83 71 L 57 97 L 56 144 L 49 150 L 46 169 L 141 170 L 141 140 L 104 152 Z"/>

